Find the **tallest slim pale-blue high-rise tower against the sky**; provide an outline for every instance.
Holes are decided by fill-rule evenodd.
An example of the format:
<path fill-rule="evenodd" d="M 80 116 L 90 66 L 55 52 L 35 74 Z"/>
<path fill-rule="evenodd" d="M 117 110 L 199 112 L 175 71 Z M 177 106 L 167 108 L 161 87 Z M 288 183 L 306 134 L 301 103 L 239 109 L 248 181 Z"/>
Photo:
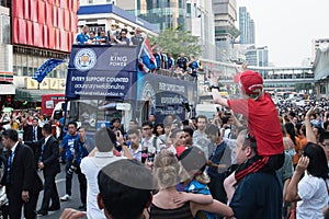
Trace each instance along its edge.
<path fill-rule="evenodd" d="M 254 22 L 246 7 L 239 8 L 240 44 L 254 44 Z"/>

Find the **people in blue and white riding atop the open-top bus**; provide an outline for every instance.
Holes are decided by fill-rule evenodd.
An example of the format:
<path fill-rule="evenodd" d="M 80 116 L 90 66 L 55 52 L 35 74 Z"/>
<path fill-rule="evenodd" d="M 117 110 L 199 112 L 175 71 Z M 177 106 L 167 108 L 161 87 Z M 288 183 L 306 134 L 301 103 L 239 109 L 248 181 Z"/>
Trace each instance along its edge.
<path fill-rule="evenodd" d="M 146 35 L 141 33 L 140 27 L 136 27 L 135 32 L 129 33 L 127 28 L 118 28 L 116 24 L 111 25 L 111 30 L 105 32 L 102 28 L 89 31 L 86 25 L 82 27 L 81 33 L 76 37 L 75 44 L 77 45 L 135 45 L 141 46 L 146 39 Z M 197 77 L 200 62 L 194 55 L 185 57 L 184 53 L 174 60 L 171 53 L 166 53 L 155 43 L 151 45 L 152 57 L 148 57 L 146 53 L 140 54 L 140 69 L 143 71 L 155 72 L 157 70 L 168 70 L 177 74 L 178 78 Z"/>

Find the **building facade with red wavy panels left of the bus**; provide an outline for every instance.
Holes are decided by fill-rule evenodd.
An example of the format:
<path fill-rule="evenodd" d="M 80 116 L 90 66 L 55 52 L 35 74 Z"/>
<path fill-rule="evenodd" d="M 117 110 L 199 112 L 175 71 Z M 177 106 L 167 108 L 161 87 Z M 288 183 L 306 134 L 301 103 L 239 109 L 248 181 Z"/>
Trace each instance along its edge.
<path fill-rule="evenodd" d="M 32 80 L 32 76 L 49 58 L 68 58 L 77 34 L 78 3 L 60 0 L 1 1 L 0 47 L 4 53 L 1 53 L 0 78 L 4 80 L 1 83 L 12 87 L 4 91 L 7 95 L 0 93 L 1 105 L 21 108 L 22 103 L 27 101 L 31 103 L 25 107 L 32 107 L 41 101 L 42 93 L 64 93 L 65 65 L 53 70 L 42 83 Z"/>

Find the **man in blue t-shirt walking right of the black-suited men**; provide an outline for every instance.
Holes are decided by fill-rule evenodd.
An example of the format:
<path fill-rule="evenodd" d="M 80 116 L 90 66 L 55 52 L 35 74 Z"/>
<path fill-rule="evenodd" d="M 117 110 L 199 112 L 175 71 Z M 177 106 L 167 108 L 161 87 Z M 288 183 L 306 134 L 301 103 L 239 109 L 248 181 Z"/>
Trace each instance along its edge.
<path fill-rule="evenodd" d="M 71 198 L 71 187 L 72 187 L 72 174 L 68 173 L 70 169 L 73 158 L 75 158 L 75 145 L 79 139 L 79 135 L 77 134 L 77 123 L 70 122 L 67 125 L 68 134 L 63 138 L 59 153 L 66 154 L 66 194 L 60 197 L 61 201 L 69 200 Z"/>

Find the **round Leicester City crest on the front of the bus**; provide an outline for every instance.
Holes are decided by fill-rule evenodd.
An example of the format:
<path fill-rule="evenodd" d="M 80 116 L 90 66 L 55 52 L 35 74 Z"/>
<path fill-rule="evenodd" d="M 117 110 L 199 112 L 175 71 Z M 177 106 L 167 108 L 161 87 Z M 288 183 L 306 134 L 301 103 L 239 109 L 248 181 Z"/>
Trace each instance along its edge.
<path fill-rule="evenodd" d="M 88 71 L 97 62 L 97 55 L 91 48 L 80 49 L 75 57 L 75 67 L 80 71 Z"/>

